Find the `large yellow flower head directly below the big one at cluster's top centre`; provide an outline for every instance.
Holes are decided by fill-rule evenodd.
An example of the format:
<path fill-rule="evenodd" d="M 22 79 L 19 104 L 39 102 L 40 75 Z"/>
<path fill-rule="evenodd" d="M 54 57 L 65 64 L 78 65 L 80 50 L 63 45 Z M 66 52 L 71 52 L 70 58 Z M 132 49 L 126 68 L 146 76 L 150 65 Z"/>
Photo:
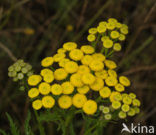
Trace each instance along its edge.
<path fill-rule="evenodd" d="M 64 69 L 67 73 L 75 73 L 78 70 L 78 64 L 74 61 L 69 61 L 65 64 Z"/>

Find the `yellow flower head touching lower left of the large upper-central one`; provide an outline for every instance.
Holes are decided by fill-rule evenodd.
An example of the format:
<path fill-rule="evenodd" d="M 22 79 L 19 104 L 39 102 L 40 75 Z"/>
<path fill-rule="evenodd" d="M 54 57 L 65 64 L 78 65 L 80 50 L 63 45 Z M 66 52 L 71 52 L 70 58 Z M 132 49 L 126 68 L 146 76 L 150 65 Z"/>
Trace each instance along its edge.
<path fill-rule="evenodd" d="M 54 72 L 54 78 L 56 80 L 64 80 L 67 76 L 68 73 L 63 68 L 56 69 Z"/>

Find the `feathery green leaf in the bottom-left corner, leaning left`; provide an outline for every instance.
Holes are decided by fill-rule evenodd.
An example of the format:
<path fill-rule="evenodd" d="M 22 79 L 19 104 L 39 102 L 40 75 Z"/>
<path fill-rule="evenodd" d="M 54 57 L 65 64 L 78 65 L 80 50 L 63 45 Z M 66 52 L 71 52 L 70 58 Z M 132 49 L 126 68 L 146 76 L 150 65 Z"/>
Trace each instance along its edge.
<path fill-rule="evenodd" d="M 6 116 L 10 123 L 10 130 L 11 130 L 12 135 L 20 135 L 19 130 L 16 124 L 13 122 L 13 119 L 11 118 L 11 116 L 8 113 L 6 113 Z"/>

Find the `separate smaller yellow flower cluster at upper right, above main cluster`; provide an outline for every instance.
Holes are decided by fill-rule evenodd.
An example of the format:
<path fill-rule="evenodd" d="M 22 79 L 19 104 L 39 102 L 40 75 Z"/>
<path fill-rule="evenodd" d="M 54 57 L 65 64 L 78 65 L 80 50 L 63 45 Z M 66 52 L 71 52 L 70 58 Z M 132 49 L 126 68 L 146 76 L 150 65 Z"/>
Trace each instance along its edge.
<path fill-rule="evenodd" d="M 107 22 L 100 22 L 97 27 L 90 28 L 88 32 L 87 40 L 89 42 L 96 42 L 100 39 L 104 48 L 120 51 L 120 42 L 125 40 L 128 34 L 128 26 L 114 18 L 109 18 Z"/>

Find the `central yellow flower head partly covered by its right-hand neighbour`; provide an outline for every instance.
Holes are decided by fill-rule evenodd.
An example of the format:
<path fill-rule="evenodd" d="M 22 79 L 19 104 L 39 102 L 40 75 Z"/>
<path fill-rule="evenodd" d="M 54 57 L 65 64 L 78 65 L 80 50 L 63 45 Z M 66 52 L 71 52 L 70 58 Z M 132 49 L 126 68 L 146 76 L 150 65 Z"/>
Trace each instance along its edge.
<path fill-rule="evenodd" d="M 75 87 L 82 87 L 83 86 L 83 82 L 81 80 L 81 74 L 78 74 L 78 73 L 71 75 L 70 82 Z"/>

